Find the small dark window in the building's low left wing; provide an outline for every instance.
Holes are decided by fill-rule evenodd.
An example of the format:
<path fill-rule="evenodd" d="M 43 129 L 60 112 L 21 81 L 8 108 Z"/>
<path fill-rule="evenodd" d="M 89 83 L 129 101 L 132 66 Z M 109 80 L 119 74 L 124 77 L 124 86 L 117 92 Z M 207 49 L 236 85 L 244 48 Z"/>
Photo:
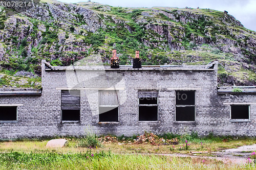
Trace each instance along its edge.
<path fill-rule="evenodd" d="M 0 107 L 0 120 L 17 120 L 17 107 Z"/>

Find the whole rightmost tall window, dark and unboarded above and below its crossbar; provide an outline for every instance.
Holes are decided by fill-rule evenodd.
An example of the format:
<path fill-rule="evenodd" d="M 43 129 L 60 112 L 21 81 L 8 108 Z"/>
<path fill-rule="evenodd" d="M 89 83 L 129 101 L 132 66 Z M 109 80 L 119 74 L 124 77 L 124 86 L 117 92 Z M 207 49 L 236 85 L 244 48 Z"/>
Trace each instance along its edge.
<path fill-rule="evenodd" d="M 195 91 L 176 91 L 176 121 L 195 121 Z"/>

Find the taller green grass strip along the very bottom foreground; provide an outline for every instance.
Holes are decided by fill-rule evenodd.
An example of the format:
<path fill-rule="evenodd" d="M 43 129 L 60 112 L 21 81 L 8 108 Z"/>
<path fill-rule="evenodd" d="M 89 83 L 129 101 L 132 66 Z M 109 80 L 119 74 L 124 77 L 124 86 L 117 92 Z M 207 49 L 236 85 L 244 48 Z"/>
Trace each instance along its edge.
<path fill-rule="evenodd" d="M 0 169 L 205 169 L 222 161 L 163 155 L 112 154 L 90 151 L 76 154 L 10 152 L 0 154 Z M 181 165 L 181 166 L 180 166 Z M 199 167 L 200 166 L 200 167 Z M 227 165 L 226 165 L 227 166 Z M 245 165 L 248 166 L 248 165 Z M 199 168 L 198 168 L 199 167 Z M 224 168 L 218 168 L 224 169 Z M 230 169 L 236 169 L 236 166 Z"/>

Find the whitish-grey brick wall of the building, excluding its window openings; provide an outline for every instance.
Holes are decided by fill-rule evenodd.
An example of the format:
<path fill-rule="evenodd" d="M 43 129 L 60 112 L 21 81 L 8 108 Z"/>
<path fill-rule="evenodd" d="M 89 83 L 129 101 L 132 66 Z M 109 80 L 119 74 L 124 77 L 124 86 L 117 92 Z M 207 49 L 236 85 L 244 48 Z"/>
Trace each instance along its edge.
<path fill-rule="evenodd" d="M 218 63 L 216 64 L 218 65 Z M 256 107 L 250 106 L 250 122 L 230 122 L 229 103 L 256 103 L 254 94 L 218 94 L 217 66 L 189 66 L 188 69 L 45 69 L 42 61 L 41 96 L 0 96 L 3 104 L 18 106 L 15 123 L 0 122 L 0 138 L 97 134 L 132 136 L 144 131 L 207 135 L 256 136 Z M 98 90 L 119 91 L 119 122 L 99 123 Z M 61 89 L 80 89 L 80 122 L 61 122 Z M 138 121 L 138 90 L 156 89 L 158 121 Z M 195 90 L 196 121 L 175 121 L 175 90 Z M 225 104 L 224 104 L 225 103 Z"/>

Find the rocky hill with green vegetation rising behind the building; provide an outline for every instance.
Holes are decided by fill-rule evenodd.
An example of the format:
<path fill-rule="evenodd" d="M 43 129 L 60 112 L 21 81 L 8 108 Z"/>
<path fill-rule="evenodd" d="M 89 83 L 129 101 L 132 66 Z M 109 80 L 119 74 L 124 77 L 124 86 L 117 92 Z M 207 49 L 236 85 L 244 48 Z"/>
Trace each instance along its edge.
<path fill-rule="evenodd" d="M 211 9 L 122 8 L 45 0 L 12 16 L 0 8 L 0 86 L 39 88 L 40 61 L 70 65 L 98 54 L 131 64 L 206 64 L 219 60 L 220 85 L 256 85 L 256 32 Z M 31 75 L 32 74 L 32 75 Z M 20 81 L 22 80 L 22 81 Z"/>

